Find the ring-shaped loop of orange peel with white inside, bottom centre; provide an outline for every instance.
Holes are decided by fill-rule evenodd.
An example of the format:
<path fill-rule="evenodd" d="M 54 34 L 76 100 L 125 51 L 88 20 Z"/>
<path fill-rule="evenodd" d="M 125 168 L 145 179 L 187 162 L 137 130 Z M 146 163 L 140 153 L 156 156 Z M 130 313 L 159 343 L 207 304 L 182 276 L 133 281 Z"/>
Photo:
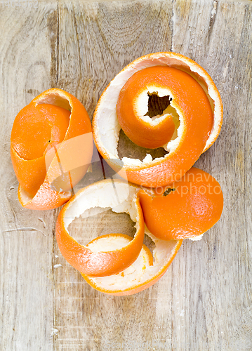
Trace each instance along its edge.
<path fill-rule="evenodd" d="M 126 212 L 136 223 L 135 237 L 125 246 L 115 250 L 92 251 L 79 244 L 69 234 L 67 227 L 79 216 L 86 216 L 91 208 L 112 208 L 114 212 Z M 90 216 L 88 214 L 88 216 Z M 93 277 L 117 274 L 131 265 L 142 249 L 145 224 L 136 188 L 120 180 L 102 180 L 79 190 L 62 208 L 56 224 L 58 246 L 74 268 Z M 107 235 L 113 241 L 116 234 Z"/>

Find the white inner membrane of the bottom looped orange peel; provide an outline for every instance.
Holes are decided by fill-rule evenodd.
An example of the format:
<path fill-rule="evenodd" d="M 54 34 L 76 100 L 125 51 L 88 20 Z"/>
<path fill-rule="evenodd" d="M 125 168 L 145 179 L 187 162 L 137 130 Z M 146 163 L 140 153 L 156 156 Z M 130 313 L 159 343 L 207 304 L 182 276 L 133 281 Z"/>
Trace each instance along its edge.
<path fill-rule="evenodd" d="M 107 208 L 112 208 L 112 211 L 115 213 L 128 213 L 138 229 L 138 212 L 135 206 L 138 190 L 139 188 L 128 185 L 128 183 L 123 181 L 114 182 L 113 185 L 111 181 L 106 180 L 86 187 L 84 191 L 77 193 L 75 201 L 67 208 L 64 218 L 66 230 L 75 218 L 90 216 L 90 210 L 97 207 L 99 209 L 95 209 L 96 213 L 97 211 L 102 211 L 102 208 L 104 208 L 104 211 Z M 94 214 L 95 212 L 92 213 Z M 123 272 L 109 277 L 88 277 L 88 279 L 100 289 L 115 291 L 133 288 L 133 286 L 138 286 L 158 276 L 159 272 L 162 272 L 169 262 L 178 241 L 157 239 L 147 230 L 147 227 L 145 227 L 145 234 L 155 244 L 153 265 L 151 265 L 150 251 L 143 247 L 138 259 Z M 86 247 L 93 252 L 105 252 L 121 249 L 128 243 L 129 240 L 126 237 L 98 237 L 90 244 L 87 244 Z"/>

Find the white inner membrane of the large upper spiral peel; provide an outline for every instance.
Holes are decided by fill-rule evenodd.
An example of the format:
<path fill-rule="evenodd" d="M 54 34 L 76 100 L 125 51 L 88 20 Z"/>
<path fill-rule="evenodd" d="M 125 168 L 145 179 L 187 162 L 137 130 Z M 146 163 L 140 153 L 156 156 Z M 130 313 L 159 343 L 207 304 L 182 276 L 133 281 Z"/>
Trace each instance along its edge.
<path fill-rule="evenodd" d="M 98 107 L 96 115 L 96 123 L 99 129 L 97 137 L 99 139 L 100 145 L 104 147 L 104 150 L 106 150 L 111 159 L 119 158 L 117 152 L 117 145 L 119 141 L 119 133 L 121 130 L 121 126 L 119 125 L 119 121 L 117 119 L 117 100 L 119 98 L 121 88 L 124 86 L 124 84 L 126 84 L 126 81 L 128 81 L 128 79 L 131 78 L 135 72 L 138 72 L 141 69 L 145 69 L 147 67 L 153 67 L 157 65 L 175 67 L 190 74 L 204 89 L 206 95 L 208 96 L 208 100 L 211 103 L 212 110 L 217 110 L 218 114 L 220 114 L 221 102 L 215 102 L 214 99 L 216 98 L 216 93 L 211 86 L 212 82 L 209 80 L 208 76 L 206 75 L 206 72 L 204 72 L 203 69 L 199 67 L 198 73 L 196 72 L 194 65 L 192 65 L 192 63 L 190 63 L 189 60 L 187 60 L 186 58 L 181 58 L 180 60 L 178 60 L 178 58 L 173 58 L 171 53 L 167 53 L 167 55 L 166 53 L 163 53 L 162 56 L 160 56 L 160 54 L 157 53 L 152 54 L 151 58 L 138 59 L 131 65 L 126 67 L 126 69 L 122 70 L 121 72 L 119 72 L 119 74 L 117 74 L 117 76 L 111 81 L 110 85 L 107 87 L 106 91 L 102 94 L 102 97 L 100 98 L 100 105 Z M 168 88 L 161 89 L 159 86 L 149 86 L 145 91 L 145 95 L 142 95 L 140 97 L 138 104 L 138 108 L 140 114 L 143 116 L 143 119 L 145 119 L 144 114 L 147 111 L 147 93 L 152 93 L 154 91 L 158 93 L 159 97 L 164 95 L 170 95 L 171 98 L 173 98 L 172 93 L 168 92 Z M 163 115 L 168 113 L 172 114 L 176 128 L 175 134 L 173 135 L 171 141 L 168 144 L 163 145 L 163 147 L 164 150 L 171 153 L 175 152 L 176 147 L 178 147 L 180 143 L 180 138 L 183 135 L 184 124 L 183 113 L 182 111 L 180 111 L 178 106 L 174 104 L 173 101 L 171 101 L 171 105 L 168 106 L 168 109 L 169 110 L 163 112 Z M 146 117 L 146 120 L 148 120 L 148 117 Z M 218 123 L 219 120 L 218 118 L 216 118 L 214 121 L 213 129 L 215 124 Z M 211 140 L 214 137 L 215 135 L 210 135 L 206 147 L 208 144 L 211 143 Z M 150 154 L 147 154 L 145 159 L 143 159 L 142 161 L 140 159 L 133 159 L 129 157 L 123 157 L 122 161 L 124 161 L 125 166 L 141 166 L 142 164 L 148 164 L 152 166 L 154 165 L 155 161 L 159 161 L 160 159 L 166 159 L 166 157 L 168 157 L 168 154 L 166 154 L 164 157 L 159 157 L 158 159 L 152 160 L 152 156 Z"/>

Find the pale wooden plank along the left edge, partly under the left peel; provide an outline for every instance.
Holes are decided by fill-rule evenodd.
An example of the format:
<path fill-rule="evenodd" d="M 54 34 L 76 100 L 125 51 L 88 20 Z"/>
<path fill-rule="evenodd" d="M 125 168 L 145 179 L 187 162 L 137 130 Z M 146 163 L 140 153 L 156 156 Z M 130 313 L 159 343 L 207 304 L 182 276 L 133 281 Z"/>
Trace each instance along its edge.
<path fill-rule="evenodd" d="M 51 86 L 47 21 L 56 8 L 47 3 L 39 11 L 8 7 L 1 11 L 0 348 L 4 351 L 53 350 L 55 216 L 53 211 L 25 211 L 20 206 L 9 149 L 15 114 Z"/>

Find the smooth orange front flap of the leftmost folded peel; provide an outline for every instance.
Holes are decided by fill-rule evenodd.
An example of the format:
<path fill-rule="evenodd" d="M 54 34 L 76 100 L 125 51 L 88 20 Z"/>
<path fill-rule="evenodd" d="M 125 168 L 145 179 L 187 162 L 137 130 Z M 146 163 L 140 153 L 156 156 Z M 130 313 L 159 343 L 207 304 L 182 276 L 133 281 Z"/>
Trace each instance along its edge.
<path fill-rule="evenodd" d="M 65 138 L 70 112 L 50 104 L 25 106 L 11 131 L 11 158 L 18 182 L 34 196 L 46 177 L 45 154 Z"/>

